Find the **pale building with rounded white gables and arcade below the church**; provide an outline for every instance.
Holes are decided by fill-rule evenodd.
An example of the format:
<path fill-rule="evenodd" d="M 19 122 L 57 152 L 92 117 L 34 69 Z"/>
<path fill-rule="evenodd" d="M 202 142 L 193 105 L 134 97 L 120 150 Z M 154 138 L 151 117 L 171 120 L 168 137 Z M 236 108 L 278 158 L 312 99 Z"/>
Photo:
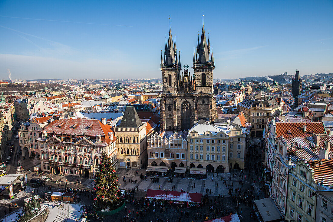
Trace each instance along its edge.
<path fill-rule="evenodd" d="M 187 132 L 168 134 L 155 133 L 148 140 L 148 164 L 151 166 L 175 167 L 187 166 Z"/>

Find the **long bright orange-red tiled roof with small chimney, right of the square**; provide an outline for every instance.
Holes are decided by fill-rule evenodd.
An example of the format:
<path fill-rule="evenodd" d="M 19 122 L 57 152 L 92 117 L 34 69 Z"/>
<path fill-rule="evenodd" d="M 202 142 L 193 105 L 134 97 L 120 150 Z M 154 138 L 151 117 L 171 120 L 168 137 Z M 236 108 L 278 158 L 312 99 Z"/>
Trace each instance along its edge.
<path fill-rule="evenodd" d="M 326 134 L 325 126 L 323 123 L 306 123 L 306 132 L 303 130 L 303 125 L 304 123 L 278 122 L 276 123 L 276 137 L 307 137 L 311 136 L 311 133 Z M 288 134 L 288 130 L 290 130 L 291 134 Z"/>

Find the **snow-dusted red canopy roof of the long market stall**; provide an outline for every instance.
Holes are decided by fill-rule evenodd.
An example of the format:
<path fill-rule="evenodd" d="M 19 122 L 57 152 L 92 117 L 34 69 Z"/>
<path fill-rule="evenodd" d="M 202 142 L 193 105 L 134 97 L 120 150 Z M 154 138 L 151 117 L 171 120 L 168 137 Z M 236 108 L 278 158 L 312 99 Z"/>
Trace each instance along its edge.
<path fill-rule="evenodd" d="M 158 200 L 185 201 L 201 203 L 201 193 L 187 193 L 179 191 L 151 190 L 147 191 L 147 198 Z"/>

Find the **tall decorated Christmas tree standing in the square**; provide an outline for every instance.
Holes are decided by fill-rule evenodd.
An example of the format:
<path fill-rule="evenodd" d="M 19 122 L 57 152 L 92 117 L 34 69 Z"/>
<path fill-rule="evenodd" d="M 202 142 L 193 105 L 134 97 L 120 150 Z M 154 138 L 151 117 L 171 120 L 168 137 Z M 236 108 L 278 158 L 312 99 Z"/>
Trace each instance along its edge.
<path fill-rule="evenodd" d="M 102 211 L 109 208 L 114 210 L 123 204 L 122 192 L 119 189 L 118 176 L 113 168 L 110 158 L 103 153 L 101 163 L 95 175 L 96 198 L 94 206 Z"/>

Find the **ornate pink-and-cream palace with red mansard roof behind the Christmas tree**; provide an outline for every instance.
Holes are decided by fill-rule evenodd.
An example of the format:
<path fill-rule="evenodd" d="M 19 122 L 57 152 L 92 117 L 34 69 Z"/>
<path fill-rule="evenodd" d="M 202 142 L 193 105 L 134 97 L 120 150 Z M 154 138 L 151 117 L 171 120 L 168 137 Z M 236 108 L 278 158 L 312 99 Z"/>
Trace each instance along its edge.
<path fill-rule="evenodd" d="M 99 120 L 54 120 L 43 129 L 37 143 L 41 169 L 50 174 L 94 178 L 103 152 L 117 169 L 117 138 L 111 127 Z"/>

